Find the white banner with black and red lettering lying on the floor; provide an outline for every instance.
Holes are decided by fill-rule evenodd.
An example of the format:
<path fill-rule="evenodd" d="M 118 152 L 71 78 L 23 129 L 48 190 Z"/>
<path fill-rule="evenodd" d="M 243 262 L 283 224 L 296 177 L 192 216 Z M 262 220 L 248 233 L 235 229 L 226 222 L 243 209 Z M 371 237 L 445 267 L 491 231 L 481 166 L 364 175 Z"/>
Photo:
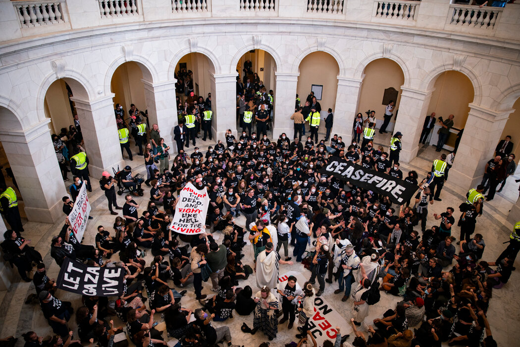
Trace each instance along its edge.
<path fill-rule="evenodd" d="M 284 275 L 280 276 L 278 280 L 280 283 L 287 281 L 289 276 L 296 277 L 296 281 L 300 287 L 304 287 L 307 279 L 299 272 L 296 271 L 288 271 Z M 318 291 L 318 288 L 315 287 L 315 290 Z M 314 338 L 316 339 L 316 343 L 318 346 L 323 345 L 323 341 L 331 340 L 334 342 L 336 338 L 336 327 L 341 328 L 341 335 L 352 333 L 352 328 L 347 323 L 345 318 L 334 310 L 334 307 L 331 304 L 321 297 L 314 298 L 314 315 L 309 319 L 309 330 L 313 333 Z M 298 313 L 296 313 L 296 322 L 298 320 Z"/>

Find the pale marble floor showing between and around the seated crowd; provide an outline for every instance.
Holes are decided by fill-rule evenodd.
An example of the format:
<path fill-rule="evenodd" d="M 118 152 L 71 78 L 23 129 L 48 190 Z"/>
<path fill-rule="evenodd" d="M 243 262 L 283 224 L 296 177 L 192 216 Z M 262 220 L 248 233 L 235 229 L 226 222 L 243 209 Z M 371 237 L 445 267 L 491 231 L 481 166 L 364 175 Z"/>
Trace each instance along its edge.
<path fill-rule="evenodd" d="M 390 134 L 376 134 L 375 142 L 383 144 L 386 148 L 389 143 L 389 137 Z M 197 145 L 201 147 L 201 150 L 205 151 L 207 146 L 214 145 L 214 143 L 209 141 L 203 143 L 201 140 L 198 140 Z M 133 149 L 135 149 L 135 147 L 133 147 Z M 192 150 L 193 147 L 190 147 L 187 152 L 191 153 Z M 435 152 L 434 147 L 421 147 L 418 157 L 412 160 L 412 162 L 409 164 L 401 164 L 401 170 L 403 172 L 408 170 L 415 170 L 418 172 L 419 177 L 424 177 L 426 172 L 430 170 L 433 159 L 436 159 L 437 157 L 438 153 Z M 126 163 L 132 166 L 134 173 L 144 172 L 144 163 L 142 157 L 135 156 L 134 161 L 126 160 Z M 518 177 L 515 178 L 517 179 Z M 88 221 L 87 230 L 85 232 L 84 242 L 88 244 L 94 243 L 94 236 L 96 234 L 96 227 L 98 225 L 103 225 L 107 230 L 112 230 L 111 226 L 114 221 L 114 216 L 110 215 L 109 211 L 107 210 L 107 200 L 103 192 L 100 190 L 99 185 L 97 184 L 97 178 L 92 177 L 92 182 L 94 190 L 92 193 L 89 193 L 89 198 L 92 204 L 92 211 L 90 214 L 94 217 L 94 219 Z M 70 182 L 68 181 L 67 184 L 70 184 Z M 144 197 L 135 198 L 142 207 L 145 206 L 149 197 L 148 189 L 145 190 L 146 192 Z M 463 200 L 463 194 L 465 194 L 465 192 L 462 192 L 458 187 L 452 186 L 448 181 L 444 186 L 443 191 L 441 192 L 441 198 L 443 201 L 435 201 L 434 205 L 430 208 L 430 213 L 433 214 L 444 212 L 448 206 L 457 208 Z M 518 184 L 516 184 L 513 179 L 509 179 L 503 192 L 498 193 L 494 200 L 485 202 L 484 215 L 479 217 L 475 231 L 476 233 L 484 235 L 484 239 L 486 241 L 487 246 L 483 257 L 484 260 L 495 261 L 496 256 L 505 247 L 502 245 L 502 242 L 508 240 L 508 235 L 512 228 L 511 224 L 506 222 L 505 219 L 509 209 L 511 208 L 511 205 L 516 201 L 517 194 Z M 119 204 L 122 205 L 124 202 L 123 197 L 118 196 L 118 201 Z M 139 212 L 142 210 L 142 208 L 139 209 Z M 457 211 L 456 217 L 458 217 L 458 214 L 459 213 Z M 432 217 L 428 221 L 427 226 L 430 227 L 431 225 L 434 225 L 433 221 L 434 219 Z M 238 218 L 238 225 L 243 226 L 244 222 L 244 217 Z M 54 278 L 58 275 L 59 267 L 55 261 L 50 258 L 50 239 L 59 233 L 61 226 L 62 223 L 42 224 L 27 222 L 24 224 L 25 232 L 23 233 L 23 236 L 25 238 L 32 239 L 32 245 L 35 246 L 36 249 L 44 256 L 44 262 L 47 265 L 48 276 Z M 453 234 L 456 237 L 458 236 L 458 227 L 454 227 Z M 251 253 L 246 251 L 245 254 L 244 262 L 249 265 L 253 265 Z M 113 259 L 118 259 L 118 256 L 115 255 Z M 146 257 L 147 262 L 151 259 L 151 253 L 148 252 Z M 517 260 L 515 265 L 520 268 L 520 259 Z M 283 274 L 287 271 L 300 272 L 307 278 L 310 276 L 310 272 L 304 269 L 304 267 L 299 263 L 296 263 L 292 266 L 280 265 L 280 274 Z M 491 299 L 491 304 L 488 311 L 488 319 L 491 325 L 491 330 L 493 332 L 493 337 L 495 337 L 499 346 L 518 345 L 518 341 L 520 341 L 520 329 L 517 328 L 518 322 L 520 321 L 520 300 L 513 298 L 515 296 L 514 288 L 515 285 L 518 284 L 519 280 L 520 272 L 516 271 L 511 276 L 508 284 L 506 284 L 500 290 L 493 291 L 493 298 Z M 245 285 L 250 285 L 253 288 L 253 292 L 257 290 L 253 276 L 251 276 L 249 280 L 241 281 L 240 286 Z M 352 316 L 352 301 L 348 300 L 347 302 L 341 302 L 341 294 L 333 294 L 333 291 L 336 288 L 337 284 L 326 284 L 326 290 L 323 294 L 323 297 L 334 307 L 337 312 L 340 312 L 343 315 L 346 321 L 348 321 Z M 39 305 L 24 304 L 25 299 L 33 292 L 33 284 L 23 281 L 16 282 L 14 285 L 12 285 L 9 291 L 0 292 L 0 338 L 5 338 L 8 336 L 16 336 L 21 338 L 21 334 L 28 330 L 34 330 L 38 333 L 38 335 L 43 336 L 51 334 L 51 329 L 46 323 Z M 204 284 L 203 293 L 208 295 L 213 294 L 210 291 L 209 282 Z M 75 309 L 81 305 L 80 299 L 76 294 L 58 291 L 56 296 L 61 300 L 71 301 Z M 397 301 L 398 298 L 382 293 L 381 301 L 378 304 L 370 307 L 370 314 L 365 320 L 365 323 L 371 322 L 371 320 L 376 317 L 381 317 L 383 312 L 385 312 L 387 309 L 394 308 Z M 192 287 L 181 302 L 184 307 L 188 307 L 190 309 L 197 309 L 200 307 L 199 303 L 194 299 Z M 229 326 L 232 333 L 233 343 L 253 347 L 259 345 L 261 342 L 267 339 L 261 332 L 257 332 L 254 336 L 242 333 L 240 330 L 242 323 L 245 322 L 250 327 L 252 327 L 252 321 L 252 316 L 242 317 L 238 314 L 235 314 L 234 318 L 228 319 L 228 321 L 224 323 L 214 323 L 214 326 Z M 121 323 L 117 318 L 114 319 L 114 322 L 116 325 Z M 334 326 L 334 323 L 331 323 Z M 69 326 L 74 331 L 76 331 L 74 319 L 70 320 Z M 342 333 L 350 333 L 352 331 L 349 326 L 341 326 L 341 328 Z M 366 324 L 363 324 L 361 328 L 362 330 L 366 330 Z M 280 325 L 278 336 L 274 341 L 271 342 L 271 345 L 283 346 L 285 343 L 297 341 L 297 339 L 294 337 L 296 333 L 296 326 L 294 326 L 293 329 L 288 330 L 287 324 Z M 165 332 L 163 337 L 165 339 L 169 339 L 166 337 Z M 21 340 L 22 339 L 18 341 L 18 346 L 23 345 Z M 353 337 L 348 339 L 348 341 L 352 340 Z"/>

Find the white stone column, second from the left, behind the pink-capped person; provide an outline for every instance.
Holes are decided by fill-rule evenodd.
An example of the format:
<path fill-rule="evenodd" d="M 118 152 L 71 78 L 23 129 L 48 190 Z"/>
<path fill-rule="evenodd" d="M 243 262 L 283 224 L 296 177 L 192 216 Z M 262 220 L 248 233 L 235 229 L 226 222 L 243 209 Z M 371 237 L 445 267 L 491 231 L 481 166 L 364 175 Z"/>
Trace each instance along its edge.
<path fill-rule="evenodd" d="M 85 141 L 91 179 L 101 178 L 103 171 L 122 169 L 125 165 L 119 146 L 118 126 L 114 117 L 114 94 L 96 100 L 74 101 L 80 118 L 81 133 Z"/>

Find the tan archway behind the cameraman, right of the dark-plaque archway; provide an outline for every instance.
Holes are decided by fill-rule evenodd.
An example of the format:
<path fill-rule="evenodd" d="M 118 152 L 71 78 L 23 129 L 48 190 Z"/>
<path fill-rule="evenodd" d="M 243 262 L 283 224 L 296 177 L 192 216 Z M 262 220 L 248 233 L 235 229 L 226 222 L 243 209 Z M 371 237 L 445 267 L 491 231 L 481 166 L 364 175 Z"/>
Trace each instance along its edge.
<path fill-rule="evenodd" d="M 444 150 L 456 150 L 462 136 L 467 116 L 470 112 L 469 104 L 475 97 L 473 84 L 465 74 L 458 71 L 445 71 L 437 76 L 435 89 L 430 98 L 428 111 L 424 115 L 435 112 L 436 125 L 426 139 L 428 152 L 435 150 L 438 143 L 438 131 L 440 129 L 440 117 L 447 120 L 450 114 L 454 115 L 453 127 L 443 146 Z M 422 127 L 421 127 L 422 128 Z M 458 135 L 460 133 L 460 136 Z"/>

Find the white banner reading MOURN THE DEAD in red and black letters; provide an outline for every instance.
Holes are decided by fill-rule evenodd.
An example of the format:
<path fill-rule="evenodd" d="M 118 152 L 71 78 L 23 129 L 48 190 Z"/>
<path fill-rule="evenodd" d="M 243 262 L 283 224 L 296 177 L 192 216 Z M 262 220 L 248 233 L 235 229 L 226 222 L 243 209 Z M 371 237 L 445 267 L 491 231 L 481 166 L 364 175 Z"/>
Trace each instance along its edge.
<path fill-rule="evenodd" d="M 204 187 L 203 190 L 199 190 L 188 182 L 180 191 L 170 229 L 184 235 L 205 233 L 204 225 L 209 204 L 207 189 Z"/>

